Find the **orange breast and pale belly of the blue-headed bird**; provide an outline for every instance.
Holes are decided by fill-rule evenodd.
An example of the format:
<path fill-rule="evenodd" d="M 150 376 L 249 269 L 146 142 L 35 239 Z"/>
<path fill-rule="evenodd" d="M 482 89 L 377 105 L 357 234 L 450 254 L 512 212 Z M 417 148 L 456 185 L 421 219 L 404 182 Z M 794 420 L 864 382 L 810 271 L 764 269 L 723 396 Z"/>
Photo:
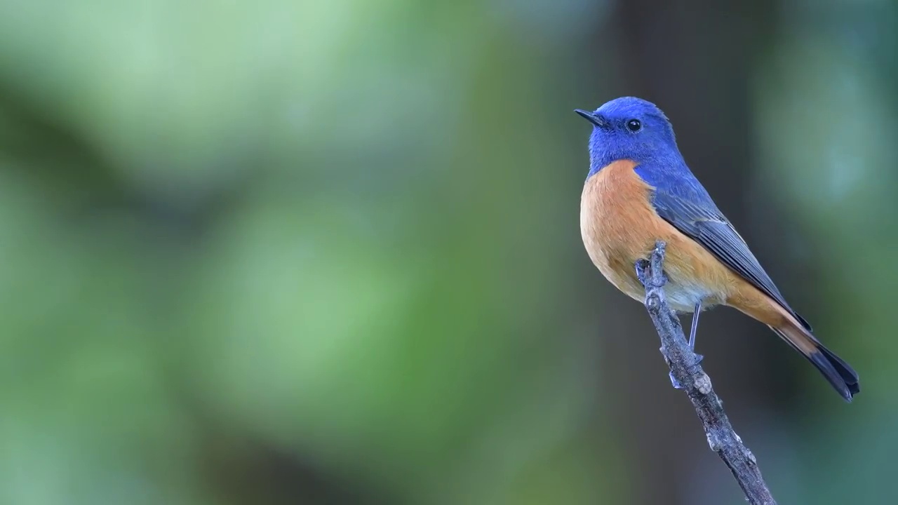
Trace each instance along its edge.
<path fill-rule="evenodd" d="M 645 298 L 635 263 L 657 240 L 667 244 L 665 288 L 674 310 L 726 303 L 747 284 L 707 249 L 659 217 L 649 200 L 653 188 L 631 160 L 616 161 L 586 180 L 580 200 L 580 233 L 586 252 L 604 277 L 629 297 Z"/>

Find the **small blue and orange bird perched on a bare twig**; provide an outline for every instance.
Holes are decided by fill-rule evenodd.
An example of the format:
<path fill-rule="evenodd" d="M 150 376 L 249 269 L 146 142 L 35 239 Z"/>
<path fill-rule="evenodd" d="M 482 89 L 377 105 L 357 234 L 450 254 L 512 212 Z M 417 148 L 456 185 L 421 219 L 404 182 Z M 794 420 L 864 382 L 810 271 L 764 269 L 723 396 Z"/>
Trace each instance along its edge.
<path fill-rule="evenodd" d="M 586 253 L 605 279 L 644 301 L 639 265 L 656 241 L 664 241 L 665 295 L 678 314 L 692 314 L 691 349 L 701 312 L 730 306 L 769 326 L 850 402 L 860 392 L 858 374 L 824 347 L 811 325 L 788 305 L 691 172 L 665 113 L 633 96 L 575 112 L 593 127 L 589 172 L 580 197 L 580 233 Z M 673 376 L 672 382 L 679 387 Z"/>

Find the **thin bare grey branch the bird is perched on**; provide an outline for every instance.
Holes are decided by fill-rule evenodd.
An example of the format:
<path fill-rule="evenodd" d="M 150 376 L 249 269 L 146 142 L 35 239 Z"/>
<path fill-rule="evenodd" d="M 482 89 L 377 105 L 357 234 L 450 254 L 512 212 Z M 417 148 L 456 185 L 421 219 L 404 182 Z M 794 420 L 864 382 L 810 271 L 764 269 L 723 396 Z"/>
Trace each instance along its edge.
<path fill-rule="evenodd" d="M 752 505 L 776 505 L 761 476 L 757 460 L 735 434 L 726 418 L 723 403 L 711 388 L 711 379 L 701 369 L 699 359 L 686 343 L 680 320 L 667 305 L 664 261 L 665 243 L 658 241 L 651 261 L 643 260 L 641 263 L 646 284 L 646 309 L 661 337 L 661 353 L 671 368 L 671 374 L 682 385 L 695 407 L 711 450 L 717 452 L 729 467 L 748 502 Z"/>

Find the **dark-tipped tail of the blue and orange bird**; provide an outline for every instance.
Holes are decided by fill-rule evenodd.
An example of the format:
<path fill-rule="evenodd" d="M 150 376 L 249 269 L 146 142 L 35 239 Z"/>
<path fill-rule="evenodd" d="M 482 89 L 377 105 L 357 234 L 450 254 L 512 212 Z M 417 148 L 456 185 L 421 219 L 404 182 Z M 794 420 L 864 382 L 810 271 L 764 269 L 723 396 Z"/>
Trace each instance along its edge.
<path fill-rule="evenodd" d="M 809 330 L 791 321 L 779 327 L 770 326 L 770 329 L 813 363 L 846 401 L 850 402 L 851 397 L 860 392 L 857 372 L 832 350 L 823 347 Z"/>

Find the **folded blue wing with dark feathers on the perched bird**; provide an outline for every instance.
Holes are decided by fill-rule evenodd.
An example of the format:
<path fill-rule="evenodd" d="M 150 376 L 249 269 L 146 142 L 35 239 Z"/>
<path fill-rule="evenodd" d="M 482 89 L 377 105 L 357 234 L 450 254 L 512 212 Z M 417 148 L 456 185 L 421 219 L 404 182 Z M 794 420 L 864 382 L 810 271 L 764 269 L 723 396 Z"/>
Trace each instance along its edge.
<path fill-rule="evenodd" d="M 711 199 L 708 191 L 688 169 L 664 171 L 639 165 L 636 173 L 656 190 L 652 204 L 658 216 L 698 242 L 727 267 L 795 316 L 808 332 L 811 325 L 786 303 L 773 280 L 761 267 L 742 236 Z"/>

